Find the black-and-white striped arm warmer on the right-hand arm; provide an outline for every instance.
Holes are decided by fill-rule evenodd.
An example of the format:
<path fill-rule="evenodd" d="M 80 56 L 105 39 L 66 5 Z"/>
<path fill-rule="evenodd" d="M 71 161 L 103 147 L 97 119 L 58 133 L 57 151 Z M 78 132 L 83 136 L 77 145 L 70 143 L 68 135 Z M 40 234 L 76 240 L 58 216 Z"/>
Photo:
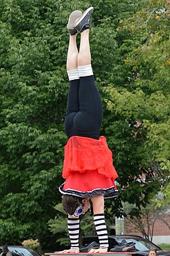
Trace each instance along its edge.
<path fill-rule="evenodd" d="M 95 214 L 94 223 L 97 231 L 97 236 L 99 238 L 100 248 L 109 247 L 108 236 L 107 236 L 107 227 L 105 225 L 105 216 L 104 214 Z"/>

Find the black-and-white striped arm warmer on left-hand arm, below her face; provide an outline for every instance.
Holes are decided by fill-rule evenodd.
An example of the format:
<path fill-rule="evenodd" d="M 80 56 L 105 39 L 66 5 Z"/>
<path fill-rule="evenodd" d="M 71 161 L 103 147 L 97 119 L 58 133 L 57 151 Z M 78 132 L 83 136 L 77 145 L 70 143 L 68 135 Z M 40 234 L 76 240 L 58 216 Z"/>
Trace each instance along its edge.
<path fill-rule="evenodd" d="M 69 229 L 69 239 L 71 242 L 71 248 L 79 248 L 80 219 L 68 218 L 67 224 Z"/>

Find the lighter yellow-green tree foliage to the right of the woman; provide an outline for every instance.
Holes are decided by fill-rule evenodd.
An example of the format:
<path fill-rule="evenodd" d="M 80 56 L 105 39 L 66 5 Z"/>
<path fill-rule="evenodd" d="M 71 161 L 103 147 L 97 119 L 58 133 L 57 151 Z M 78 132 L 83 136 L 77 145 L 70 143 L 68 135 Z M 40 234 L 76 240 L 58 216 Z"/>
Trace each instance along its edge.
<path fill-rule="evenodd" d="M 167 1 L 148 1 L 146 8 L 120 21 L 122 26 L 118 31 L 128 35 L 119 47 L 124 55 L 120 70 L 127 70 L 128 76 L 121 87 L 110 83 L 105 88 L 109 116 L 115 115 L 111 129 L 116 130 L 113 142 L 116 141 L 116 151 L 119 150 L 116 154 L 116 164 L 120 160 L 119 182 L 128 186 L 122 191 L 122 199 L 135 202 L 138 207 L 145 206 L 160 188 L 166 197 L 168 191 L 168 22 Z M 118 158 L 119 154 L 124 154 L 126 165 L 122 157 Z"/>

